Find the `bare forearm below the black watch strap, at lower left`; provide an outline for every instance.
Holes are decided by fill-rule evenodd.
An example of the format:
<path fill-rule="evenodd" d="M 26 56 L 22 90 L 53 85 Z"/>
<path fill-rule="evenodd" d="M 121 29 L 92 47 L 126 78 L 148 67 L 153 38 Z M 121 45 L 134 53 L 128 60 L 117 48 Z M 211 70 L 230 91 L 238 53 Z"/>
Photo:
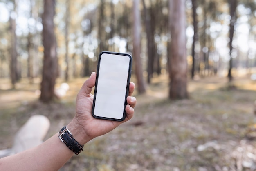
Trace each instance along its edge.
<path fill-rule="evenodd" d="M 0 170 L 57 171 L 73 154 L 56 133 L 37 147 L 0 159 Z"/>

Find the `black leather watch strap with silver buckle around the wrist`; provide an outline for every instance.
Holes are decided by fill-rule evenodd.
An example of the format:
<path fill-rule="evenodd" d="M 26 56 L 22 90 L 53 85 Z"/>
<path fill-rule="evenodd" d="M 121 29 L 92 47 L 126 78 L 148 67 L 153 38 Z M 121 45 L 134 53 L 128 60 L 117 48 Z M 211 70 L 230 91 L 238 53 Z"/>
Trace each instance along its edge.
<path fill-rule="evenodd" d="M 67 129 L 67 126 L 63 127 L 59 132 L 58 137 L 61 142 L 65 143 L 66 146 L 72 150 L 76 155 L 83 151 L 83 145 L 80 145 L 73 137 L 72 133 Z"/>

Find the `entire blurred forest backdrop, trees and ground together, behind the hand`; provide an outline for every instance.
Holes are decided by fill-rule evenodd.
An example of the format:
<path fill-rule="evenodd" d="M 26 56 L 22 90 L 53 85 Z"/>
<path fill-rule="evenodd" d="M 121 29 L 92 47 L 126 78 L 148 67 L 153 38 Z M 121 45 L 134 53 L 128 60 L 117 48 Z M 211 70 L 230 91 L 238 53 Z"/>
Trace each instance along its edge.
<path fill-rule="evenodd" d="M 51 118 L 51 135 L 72 118 L 75 95 L 96 71 L 99 53 L 130 53 L 138 117 L 94 143 L 108 147 L 116 135 L 134 144 L 89 144 L 94 151 L 85 150 L 63 170 L 253 170 L 253 150 L 247 151 L 254 156 L 249 167 L 239 159 L 244 153 L 233 152 L 254 147 L 247 139 L 254 139 L 255 23 L 255 0 L 0 0 L 0 127 L 12 140 L 9 134 L 29 116 L 43 114 Z M 65 97 L 56 95 L 62 82 L 70 87 Z M 193 124 L 184 123 L 192 118 Z M 126 129 L 137 135 L 126 135 Z M 178 137 L 170 141 L 172 136 Z M 140 140 L 148 152 L 139 152 Z M 206 152 L 198 149 L 209 142 Z M 128 152 L 118 153 L 121 147 Z"/>

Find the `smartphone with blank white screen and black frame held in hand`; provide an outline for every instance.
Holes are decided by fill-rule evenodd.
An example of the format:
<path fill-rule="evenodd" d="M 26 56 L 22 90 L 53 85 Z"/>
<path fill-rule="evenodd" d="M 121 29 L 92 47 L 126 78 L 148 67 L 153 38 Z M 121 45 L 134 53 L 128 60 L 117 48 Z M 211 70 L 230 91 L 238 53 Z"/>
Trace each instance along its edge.
<path fill-rule="evenodd" d="M 94 118 L 123 121 L 132 68 L 132 56 L 103 51 L 99 54 L 92 115 Z"/>

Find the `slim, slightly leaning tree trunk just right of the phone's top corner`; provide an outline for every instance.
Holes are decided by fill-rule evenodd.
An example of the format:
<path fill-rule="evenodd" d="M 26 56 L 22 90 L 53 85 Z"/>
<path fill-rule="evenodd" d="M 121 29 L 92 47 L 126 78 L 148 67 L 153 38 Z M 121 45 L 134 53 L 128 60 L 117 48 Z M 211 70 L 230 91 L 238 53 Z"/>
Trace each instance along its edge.
<path fill-rule="evenodd" d="M 139 0 L 133 0 L 133 58 L 135 60 L 135 75 L 137 78 L 138 91 L 144 93 L 146 91 L 143 70 L 141 64 L 141 25 L 140 25 L 140 13 L 139 13 Z"/>

